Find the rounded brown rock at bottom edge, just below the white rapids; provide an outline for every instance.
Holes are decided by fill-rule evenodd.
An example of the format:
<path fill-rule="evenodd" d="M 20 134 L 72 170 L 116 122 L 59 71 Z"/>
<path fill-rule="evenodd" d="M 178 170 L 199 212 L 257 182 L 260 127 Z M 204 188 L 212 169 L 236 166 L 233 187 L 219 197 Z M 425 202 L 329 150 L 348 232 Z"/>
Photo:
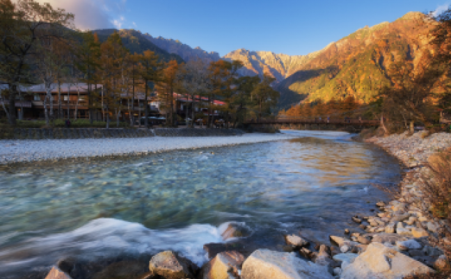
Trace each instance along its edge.
<path fill-rule="evenodd" d="M 165 279 L 182 279 L 193 278 L 196 265 L 172 251 L 164 251 L 152 257 L 149 269 Z"/>

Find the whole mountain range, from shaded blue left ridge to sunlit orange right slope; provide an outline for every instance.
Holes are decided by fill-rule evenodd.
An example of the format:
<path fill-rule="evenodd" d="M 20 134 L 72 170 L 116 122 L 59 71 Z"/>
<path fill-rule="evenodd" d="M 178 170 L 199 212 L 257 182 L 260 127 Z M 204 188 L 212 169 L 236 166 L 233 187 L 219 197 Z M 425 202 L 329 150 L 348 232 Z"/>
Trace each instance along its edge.
<path fill-rule="evenodd" d="M 206 62 L 242 61 L 241 74 L 270 74 L 276 78 L 273 86 L 280 92 L 279 109 L 287 109 L 303 99 L 327 101 L 349 95 L 360 102 L 369 102 L 382 86 L 392 84 L 387 71 L 391 63 L 401 61 L 417 65 L 427 49 L 429 20 L 422 13 L 410 12 L 395 22 L 365 26 L 324 49 L 296 56 L 237 49 L 220 57 L 217 52 L 191 48 L 178 40 L 155 38 L 139 31 L 121 30 L 120 33 L 130 43 L 138 38 L 139 43 L 135 45 L 141 44 L 141 47 L 145 45 L 143 39 L 147 40 L 155 49 L 160 49 L 165 58 L 170 58 L 170 54 L 184 61 L 196 58 Z"/>

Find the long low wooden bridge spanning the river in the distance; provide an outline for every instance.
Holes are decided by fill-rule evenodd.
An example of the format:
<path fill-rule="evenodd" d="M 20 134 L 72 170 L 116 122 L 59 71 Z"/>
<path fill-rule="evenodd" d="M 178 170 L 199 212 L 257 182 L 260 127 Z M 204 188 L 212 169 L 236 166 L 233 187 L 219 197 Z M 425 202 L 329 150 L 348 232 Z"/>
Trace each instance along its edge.
<path fill-rule="evenodd" d="M 307 118 L 274 118 L 260 120 L 246 120 L 244 125 L 335 125 L 335 126 L 363 126 L 377 127 L 379 120 L 360 120 L 360 119 L 307 119 Z"/>

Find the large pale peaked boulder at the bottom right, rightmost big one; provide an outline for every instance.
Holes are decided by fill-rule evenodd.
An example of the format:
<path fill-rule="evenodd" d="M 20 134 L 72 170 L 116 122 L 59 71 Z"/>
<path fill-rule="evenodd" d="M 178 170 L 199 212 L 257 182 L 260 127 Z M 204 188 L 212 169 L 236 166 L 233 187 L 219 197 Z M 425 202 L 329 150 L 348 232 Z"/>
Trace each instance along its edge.
<path fill-rule="evenodd" d="M 346 266 L 342 279 L 401 279 L 413 274 L 434 272 L 425 264 L 388 248 L 372 243 L 353 263 Z"/>

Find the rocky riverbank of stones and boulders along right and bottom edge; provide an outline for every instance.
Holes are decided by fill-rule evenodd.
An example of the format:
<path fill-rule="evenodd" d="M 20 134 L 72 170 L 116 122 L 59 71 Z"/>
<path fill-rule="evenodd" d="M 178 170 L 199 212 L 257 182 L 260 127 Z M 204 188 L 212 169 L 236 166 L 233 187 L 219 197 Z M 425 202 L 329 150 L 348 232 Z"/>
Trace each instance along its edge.
<path fill-rule="evenodd" d="M 428 157 L 450 148 L 451 134 L 426 136 L 420 132 L 413 136 L 374 137 L 367 142 L 379 145 L 404 164 L 406 175 L 399 184 L 401 196 L 390 202 L 378 202 L 372 216 L 349 216 L 356 225 L 342 235 L 331 236 L 330 243 L 309 241 L 301 231 L 285 236 L 285 252 L 258 249 L 248 255 L 235 248 L 233 242 L 217 244 L 214 251 L 207 244 L 209 262 L 204 266 L 164 251 L 149 259 L 145 272 L 121 277 L 120 264 L 115 263 L 101 273 L 136 279 L 394 279 L 443 268 L 448 264 L 443 251 L 429 241 L 429 236 L 436 235 L 438 224 L 422 214 L 411 198 L 420 195 L 418 180 L 420 173 L 427 171 Z M 231 227 L 225 232 L 224 239 L 245 235 L 240 228 Z M 79 277 L 72 264 L 60 262 L 47 276 L 52 278 Z"/>

